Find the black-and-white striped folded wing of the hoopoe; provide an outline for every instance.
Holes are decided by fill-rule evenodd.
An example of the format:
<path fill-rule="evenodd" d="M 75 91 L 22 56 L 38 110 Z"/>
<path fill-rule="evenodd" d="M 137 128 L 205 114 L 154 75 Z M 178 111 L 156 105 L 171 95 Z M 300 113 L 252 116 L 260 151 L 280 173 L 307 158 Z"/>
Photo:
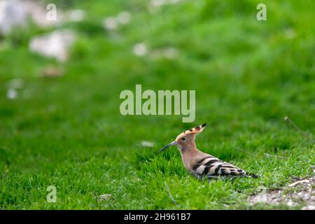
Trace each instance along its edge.
<path fill-rule="evenodd" d="M 224 162 L 211 155 L 197 161 L 193 172 L 199 176 L 246 176 L 246 172 L 235 165 Z"/>

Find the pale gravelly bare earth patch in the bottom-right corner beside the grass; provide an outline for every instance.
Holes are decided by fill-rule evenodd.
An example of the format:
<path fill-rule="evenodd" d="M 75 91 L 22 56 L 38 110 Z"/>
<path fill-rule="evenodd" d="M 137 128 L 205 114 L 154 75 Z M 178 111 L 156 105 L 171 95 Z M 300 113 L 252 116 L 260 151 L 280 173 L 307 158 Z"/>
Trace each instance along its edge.
<path fill-rule="evenodd" d="M 315 176 L 295 181 L 281 190 L 262 191 L 248 197 L 248 201 L 250 204 L 286 204 L 290 207 L 304 203 L 302 210 L 315 210 Z"/>

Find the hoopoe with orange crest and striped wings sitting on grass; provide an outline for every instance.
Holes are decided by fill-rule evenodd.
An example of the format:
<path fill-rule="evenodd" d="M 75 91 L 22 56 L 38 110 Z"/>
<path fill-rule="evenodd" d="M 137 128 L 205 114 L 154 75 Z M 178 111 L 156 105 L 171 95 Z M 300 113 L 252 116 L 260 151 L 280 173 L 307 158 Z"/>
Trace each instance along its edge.
<path fill-rule="evenodd" d="M 209 181 L 211 179 L 218 179 L 220 176 L 248 176 L 257 178 L 255 174 L 246 174 L 243 169 L 197 149 L 195 135 L 202 132 L 206 125 L 207 123 L 198 125 L 193 129 L 179 134 L 175 141 L 163 147 L 160 152 L 169 148 L 169 146 L 176 145 L 179 151 L 181 151 L 181 158 L 186 169 L 197 179 L 202 179 L 204 176 L 207 176 Z"/>

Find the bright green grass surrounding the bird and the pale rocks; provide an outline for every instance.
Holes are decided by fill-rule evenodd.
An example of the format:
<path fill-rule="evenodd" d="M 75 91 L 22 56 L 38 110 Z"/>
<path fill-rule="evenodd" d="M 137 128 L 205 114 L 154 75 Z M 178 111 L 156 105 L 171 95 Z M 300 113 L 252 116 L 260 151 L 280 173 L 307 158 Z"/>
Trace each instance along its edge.
<path fill-rule="evenodd" d="M 303 207 L 251 205 L 248 196 L 261 186 L 283 188 L 293 176 L 314 176 L 314 143 L 283 120 L 314 138 L 314 1 L 264 1 L 267 21 L 256 20 L 260 1 L 249 0 L 186 0 L 155 12 L 145 0 L 49 2 L 86 16 L 59 26 L 78 36 L 66 62 L 28 49 L 34 35 L 55 28 L 29 24 L 1 38 L 0 209 Z M 124 10 L 128 24 L 104 29 L 104 18 Z M 137 43 L 147 55 L 134 55 Z M 174 58 L 153 57 L 165 49 L 175 49 Z M 41 77 L 46 66 L 64 76 Z M 16 78 L 22 87 L 8 99 Z M 136 84 L 196 90 L 195 122 L 122 116 L 120 92 Z M 260 178 L 209 184 L 189 176 L 174 146 L 157 153 L 202 123 L 208 125 L 198 148 Z M 46 201 L 48 186 L 57 188 L 56 203 Z M 94 197 L 104 194 L 112 195 L 111 206 Z"/>

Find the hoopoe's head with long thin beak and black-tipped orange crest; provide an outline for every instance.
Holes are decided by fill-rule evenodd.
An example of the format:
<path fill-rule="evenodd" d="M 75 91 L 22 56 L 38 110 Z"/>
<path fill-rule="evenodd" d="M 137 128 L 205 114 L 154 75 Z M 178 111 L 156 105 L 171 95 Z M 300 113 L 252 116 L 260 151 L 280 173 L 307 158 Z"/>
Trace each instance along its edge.
<path fill-rule="evenodd" d="M 179 136 L 176 137 L 175 141 L 172 141 L 167 146 L 164 146 L 163 148 L 161 148 L 160 152 L 165 151 L 165 149 L 174 145 L 177 145 L 180 151 L 182 151 L 183 148 L 186 148 L 186 146 L 195 146 L 195 135 L 202 132 L 204 130 L 204 127 L 206 127 L 206 125 L 207 123 L 203 125 L 198 125 L 197 127 L 193 127 L 192 129 L 179 134 Z"/>

